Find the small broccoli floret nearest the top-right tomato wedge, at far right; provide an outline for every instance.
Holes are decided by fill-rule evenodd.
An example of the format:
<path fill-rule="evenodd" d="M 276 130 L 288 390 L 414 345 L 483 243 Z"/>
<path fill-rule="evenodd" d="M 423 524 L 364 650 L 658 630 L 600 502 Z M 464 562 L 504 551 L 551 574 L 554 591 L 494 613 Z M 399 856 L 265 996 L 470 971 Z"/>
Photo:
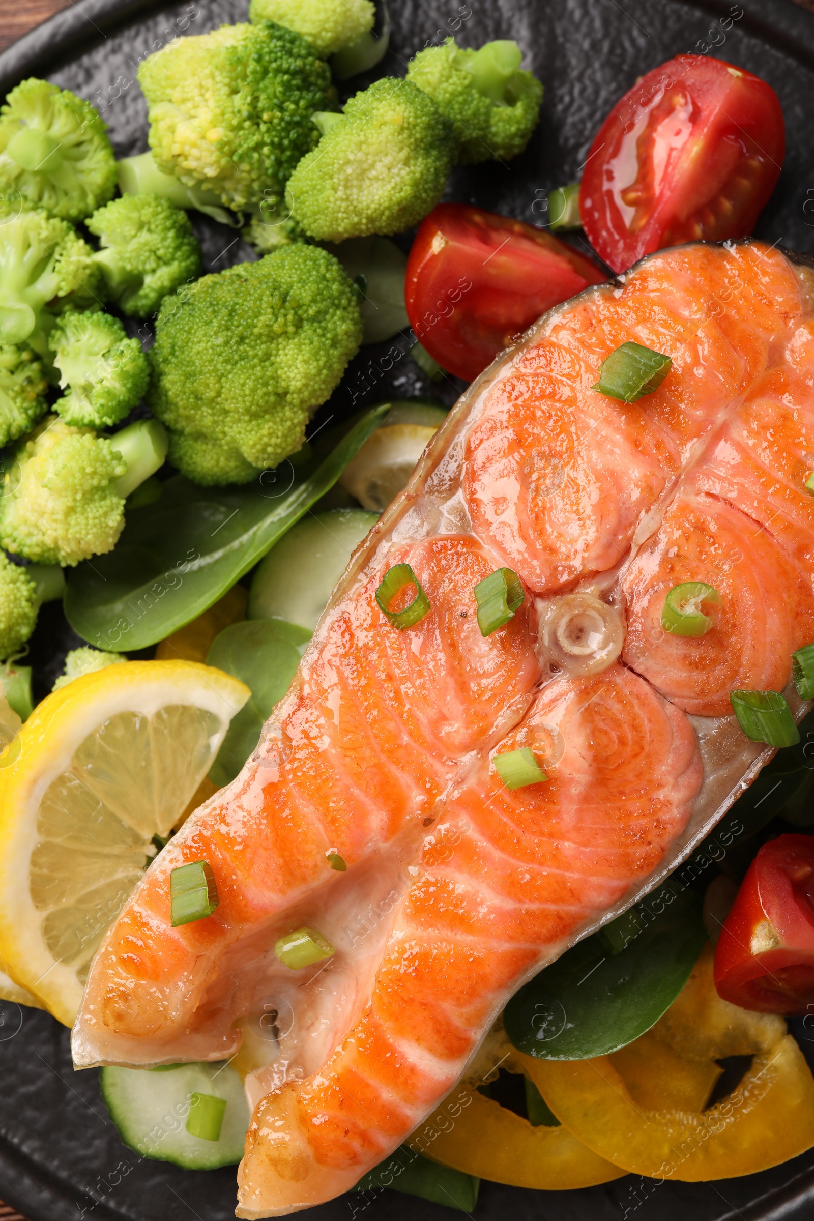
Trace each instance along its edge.
<path fill-rule="evenodd" d="M 408 81 L 423 89 L 453 120 L 458 165 L 522 153 L 537 126 L 543 87 L 520 70 L 516 43 L 487 43 L 480 51 L 461 50 L 448 38 L 443 46 L 419 51 Z"/>

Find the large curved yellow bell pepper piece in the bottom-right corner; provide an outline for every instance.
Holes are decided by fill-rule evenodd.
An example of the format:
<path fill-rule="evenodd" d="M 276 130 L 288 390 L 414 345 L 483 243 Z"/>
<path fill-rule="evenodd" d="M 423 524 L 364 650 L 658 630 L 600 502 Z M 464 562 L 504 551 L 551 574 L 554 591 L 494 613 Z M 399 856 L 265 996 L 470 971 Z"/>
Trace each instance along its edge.
<path fill-rule="evenodd" d="M 748 1055 L 737 1089 L 703 1110 L 714 1061 Z M 630 1046 L 593 1060 L 522 1063 L 575 1137 L 636 1175 L 730 1178 L 814 1145 L 814 1078 L 803 1054 L 782 1018 L 719 998 L 710 946 L 664 1017 Z"/>

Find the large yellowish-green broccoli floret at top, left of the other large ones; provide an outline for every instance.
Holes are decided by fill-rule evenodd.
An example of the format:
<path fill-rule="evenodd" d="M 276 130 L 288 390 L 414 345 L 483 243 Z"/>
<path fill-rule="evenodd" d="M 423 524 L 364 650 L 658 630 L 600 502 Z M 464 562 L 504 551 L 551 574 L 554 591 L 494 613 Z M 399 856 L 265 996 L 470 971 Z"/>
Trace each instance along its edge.
<path fill-rule="evenodd" d="M 331 110 L 331 73 L 304 38 L 270 21 L 179 38 L 139 67 L 160 170 L 205 187 L 227 208 L 282 195 Z"/>

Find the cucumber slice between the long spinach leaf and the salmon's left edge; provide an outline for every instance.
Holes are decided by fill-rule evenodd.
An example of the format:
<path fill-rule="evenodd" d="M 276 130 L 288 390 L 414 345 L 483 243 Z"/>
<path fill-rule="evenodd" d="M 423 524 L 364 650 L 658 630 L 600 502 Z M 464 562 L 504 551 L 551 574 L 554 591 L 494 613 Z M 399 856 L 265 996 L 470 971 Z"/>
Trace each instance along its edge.
<path fill-rule="evenodd" d="M 328 509 L 298 521 L 254 574 L 249 619 L 286 619 L 314 631 L 351 552 L 377 516 L 362 509 Z"/>

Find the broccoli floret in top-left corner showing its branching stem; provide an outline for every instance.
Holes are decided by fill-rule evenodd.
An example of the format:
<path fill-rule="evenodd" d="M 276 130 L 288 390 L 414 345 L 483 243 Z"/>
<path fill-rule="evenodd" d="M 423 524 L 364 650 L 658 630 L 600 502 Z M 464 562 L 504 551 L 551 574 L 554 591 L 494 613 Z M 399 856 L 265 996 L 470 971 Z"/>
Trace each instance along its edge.
<path fill-rule="evenodd" d="M 0 189 L 82 221 L 116 189 L 116 158 L 89 101 L 32 77 L 0 109 Z"/>

